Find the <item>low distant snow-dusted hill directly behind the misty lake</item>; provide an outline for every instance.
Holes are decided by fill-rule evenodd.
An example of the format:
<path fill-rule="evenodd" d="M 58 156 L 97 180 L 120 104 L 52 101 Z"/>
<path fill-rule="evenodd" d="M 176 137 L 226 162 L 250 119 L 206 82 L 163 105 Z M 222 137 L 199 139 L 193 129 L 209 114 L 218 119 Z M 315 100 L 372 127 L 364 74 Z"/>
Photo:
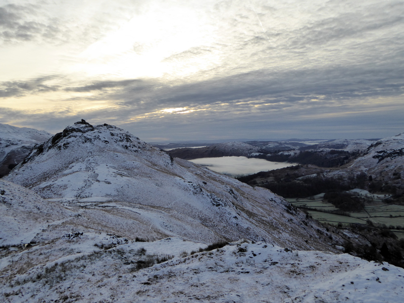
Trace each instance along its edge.
<path fill-rule="evenodd" d="M 176 148 L 167 151 L 167 153 L 174 158 L 191 160 L 197 158 L 215 158 L 226 156 L 248 157 L 253 153 L 257 153 L 258 150 L 260 150 L 260 147 L 252 146 L 247 143 L 226 142 L 198 148 Z"/>

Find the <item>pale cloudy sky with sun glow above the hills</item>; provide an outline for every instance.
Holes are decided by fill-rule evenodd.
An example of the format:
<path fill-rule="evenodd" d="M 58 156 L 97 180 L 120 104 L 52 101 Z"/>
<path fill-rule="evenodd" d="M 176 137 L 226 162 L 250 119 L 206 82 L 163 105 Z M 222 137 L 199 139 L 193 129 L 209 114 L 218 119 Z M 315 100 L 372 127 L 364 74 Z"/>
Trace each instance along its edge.
<path fill-rule="evenodd" d="M 403 114 L 403 0 L 0 0 L 3 124 L 353 139 Z"/>

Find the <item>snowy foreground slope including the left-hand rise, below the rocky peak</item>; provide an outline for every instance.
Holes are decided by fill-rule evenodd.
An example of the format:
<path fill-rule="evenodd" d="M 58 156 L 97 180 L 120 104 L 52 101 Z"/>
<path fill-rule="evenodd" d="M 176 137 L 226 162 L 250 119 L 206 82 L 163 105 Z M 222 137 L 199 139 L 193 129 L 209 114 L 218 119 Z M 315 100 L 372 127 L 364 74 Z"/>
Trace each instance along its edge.
<path fill-rule="evenodd" d="M 129 222 L 104 212 L 0 180 L 0 299 L 399 303 L 404 296 L 404 269 L 387 263 L 264 241 L 211 250 L 180 237 L 133 241 L 100 232 L 114 215 L 121 227 Z"/>

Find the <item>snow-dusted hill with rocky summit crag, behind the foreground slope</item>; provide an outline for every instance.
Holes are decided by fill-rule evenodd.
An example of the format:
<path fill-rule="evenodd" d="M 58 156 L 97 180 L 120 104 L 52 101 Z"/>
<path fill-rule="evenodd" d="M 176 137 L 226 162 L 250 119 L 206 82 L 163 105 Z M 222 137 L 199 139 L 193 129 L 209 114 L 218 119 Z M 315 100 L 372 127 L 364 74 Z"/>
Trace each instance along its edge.
<path fill-rule="evenodd" d="M 265 239 L 321 250 L 342 242 L 269 190 L 173 159 L 108 124 L 67 127 L 36 145 L 6 179 L 76 210 L 82 231 L 205 243 Z"/>

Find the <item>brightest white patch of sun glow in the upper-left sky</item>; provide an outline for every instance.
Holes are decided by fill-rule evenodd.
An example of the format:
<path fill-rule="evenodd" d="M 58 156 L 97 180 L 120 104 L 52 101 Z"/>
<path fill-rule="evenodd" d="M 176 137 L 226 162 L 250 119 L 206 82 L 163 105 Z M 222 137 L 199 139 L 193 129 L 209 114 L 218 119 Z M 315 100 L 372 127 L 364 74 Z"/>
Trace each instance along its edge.
<path fill-rule="evenodd" d="M 170 57 L 192 47 L 209 46 L 214 39 L 213 29 L 212 24 L 190 8 L 153 7 L 89 45 L 72 71 L 118 78 L 189 76 L 209 67 L 215 58 L 170 60 Z"/>

